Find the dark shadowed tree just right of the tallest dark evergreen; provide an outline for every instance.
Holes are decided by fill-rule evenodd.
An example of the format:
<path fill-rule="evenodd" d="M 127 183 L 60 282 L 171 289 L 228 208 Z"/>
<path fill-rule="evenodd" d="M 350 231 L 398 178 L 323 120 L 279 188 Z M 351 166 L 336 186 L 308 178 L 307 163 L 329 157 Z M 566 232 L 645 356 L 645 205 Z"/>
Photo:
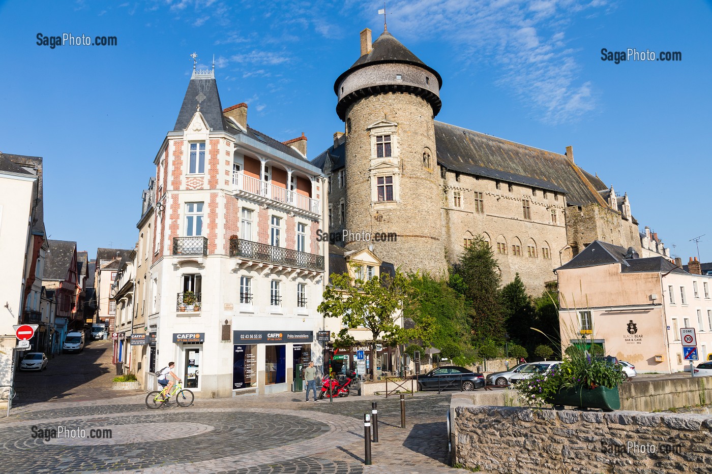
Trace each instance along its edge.
<path fill-rule="evenodd" d="M 519 273 L 511 283 L 502 288 L 500 296 L 508 334 L 514 342 L 525 347 L 533 347 L 538 337 L 529 328 L 536 324 L 536 310 L 524 283 L 519 278 Z"/>

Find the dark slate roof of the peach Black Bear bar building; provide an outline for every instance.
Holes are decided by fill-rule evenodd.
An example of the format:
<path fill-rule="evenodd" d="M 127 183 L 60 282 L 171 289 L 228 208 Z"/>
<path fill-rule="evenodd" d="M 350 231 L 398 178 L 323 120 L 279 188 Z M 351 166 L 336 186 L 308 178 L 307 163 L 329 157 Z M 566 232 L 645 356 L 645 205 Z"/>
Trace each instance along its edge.
<path fill-rule="evenodd" d="M 557 270 L 570 270 L 572 268 L 585 268 L 597 265 L 611 265 L 619 263 L 621 273 L 637 272 L 667 272 L 686 273 L 681 268 L 676 268 L 673 263 L 663 257 L 650 258 L 625 258 L 628 253 L 626 248 L 614 246 L 602 241 L 593 241 L 577 256 L 572 258 L 565 265 L 556 268 Z"/>

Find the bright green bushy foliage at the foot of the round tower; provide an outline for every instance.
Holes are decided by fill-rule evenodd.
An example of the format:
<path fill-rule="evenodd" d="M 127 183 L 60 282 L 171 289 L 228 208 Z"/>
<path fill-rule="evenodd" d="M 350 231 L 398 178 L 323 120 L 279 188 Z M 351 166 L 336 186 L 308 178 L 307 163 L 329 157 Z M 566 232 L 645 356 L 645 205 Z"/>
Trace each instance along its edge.
<path fill-rule="evenodd" d="M 465 297 L 446 282 L 435 280 L 428 274 L 410 274 L 409 278 L 418 297 L 409 300 L 409 305 L 404 307 L 404 315 L 417 326 L 433 327 L 431 332 L 426 333 L 426 339 L 419 340 L 421 347 L 436 347 L 440 349 L 441 357 L 447 357 L 459 365 L 474 362 Z M 416 350 L 412 346 L 408 349 Z"/>

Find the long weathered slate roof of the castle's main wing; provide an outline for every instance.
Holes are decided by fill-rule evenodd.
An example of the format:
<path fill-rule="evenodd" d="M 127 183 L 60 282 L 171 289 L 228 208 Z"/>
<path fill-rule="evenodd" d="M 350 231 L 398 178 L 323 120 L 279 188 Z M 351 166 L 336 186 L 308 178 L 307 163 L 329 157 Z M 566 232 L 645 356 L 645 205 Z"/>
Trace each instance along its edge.
<path fill-rule="evenodd" d="M 435 121 L 435 147 L 438 162 L 448 169 L 465 173 L 477 171 L 485 176 L 487 172 L 510 175 L 513 182 L 525 180 L 528 182 L 521 184 L 565 189 L 570 205 L 602 204 L 595 186 L 563 154 L 438 121 Z"/>

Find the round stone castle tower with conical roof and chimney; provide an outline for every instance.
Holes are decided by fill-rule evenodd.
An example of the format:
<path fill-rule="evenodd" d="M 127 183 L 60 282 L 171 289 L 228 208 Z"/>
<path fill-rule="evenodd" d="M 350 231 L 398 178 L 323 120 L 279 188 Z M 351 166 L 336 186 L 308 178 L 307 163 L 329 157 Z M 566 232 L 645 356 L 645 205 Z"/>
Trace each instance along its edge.
<path fill-rule="evenodd" d="M 382 260 L 436 278 L 447 268 L 434 130 L 441 85 L 390 33 L 372 43 L 368 28 L 361 57 L 334 85 L 346 122 L 345 228 L 372 236 L 347 236 L 346 248 L 372 244 Z"/>

